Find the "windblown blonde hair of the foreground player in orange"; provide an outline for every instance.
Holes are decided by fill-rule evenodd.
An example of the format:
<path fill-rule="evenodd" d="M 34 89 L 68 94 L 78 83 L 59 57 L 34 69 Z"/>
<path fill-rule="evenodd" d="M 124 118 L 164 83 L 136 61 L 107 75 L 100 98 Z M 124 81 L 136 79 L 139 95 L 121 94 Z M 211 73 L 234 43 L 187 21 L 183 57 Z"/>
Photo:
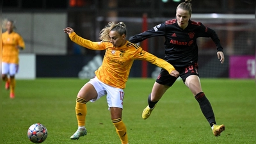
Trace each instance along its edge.
<path fill-rule="evenodd" d="M 118 22 L 118 24 L 115 24 L 115 22 L 109 22 L 107 26 L 105 26 L 104 29 L 100 31 L 100 40 L 110 40 L 109 38 L 109 32 L 110 31 L 117 31 L 120 35 L 126 35 L 126 28 L 125 28 L 124 22 Z"/>

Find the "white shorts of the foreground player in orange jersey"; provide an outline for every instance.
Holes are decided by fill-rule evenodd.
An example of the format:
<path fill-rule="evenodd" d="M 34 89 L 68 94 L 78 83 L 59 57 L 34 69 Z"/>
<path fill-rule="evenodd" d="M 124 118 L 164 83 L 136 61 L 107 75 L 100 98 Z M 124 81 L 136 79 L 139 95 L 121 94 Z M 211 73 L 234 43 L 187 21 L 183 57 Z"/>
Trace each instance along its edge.
<path fill-rule="evenodd" d="M 124 90 L 121 88 L 114 88 L 108 84 L 102 83 L 97 77 L 90 79 L 88 82 L 92 84 L 98 93 L 96 99 L 90 100 L 90 102 L 95 102 L 104 95 L 107 95 L 108 108 L 116 107 L 123 108 Z"/>

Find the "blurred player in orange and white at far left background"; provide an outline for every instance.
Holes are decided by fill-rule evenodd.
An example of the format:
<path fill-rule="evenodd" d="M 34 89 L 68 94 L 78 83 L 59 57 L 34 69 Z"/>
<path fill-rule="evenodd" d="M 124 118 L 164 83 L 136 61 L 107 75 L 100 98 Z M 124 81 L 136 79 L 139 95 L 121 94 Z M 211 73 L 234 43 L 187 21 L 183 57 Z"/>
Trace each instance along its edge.
<path fill-rule="evenodd" d="M 12 20 L 3 20 L 2 29 L 2 79 L 5 81 L 6 90 L 10 89 L 10 98 L 15 97 L 15 74 L 19 70 L 19 50 L 25 49 L 25 43 L 18 33 L 14 31 Z M 10 76 L 10 77 L 8 77 Z"/>

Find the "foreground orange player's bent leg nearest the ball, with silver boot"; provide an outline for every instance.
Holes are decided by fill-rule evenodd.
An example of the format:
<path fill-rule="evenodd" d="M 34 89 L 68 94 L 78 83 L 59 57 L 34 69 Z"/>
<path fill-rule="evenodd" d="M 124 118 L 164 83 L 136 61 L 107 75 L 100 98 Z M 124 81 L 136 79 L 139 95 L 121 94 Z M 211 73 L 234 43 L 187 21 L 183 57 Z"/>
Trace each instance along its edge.
<path fill-rule="evenodd" d="M 78 129 L 70 137 L 71 140 L 78 140 L 79 137 L 87 134 L 87 130 L 85 128 L 86 114 L 87 114 L 86 102 L 92 99 L 97 99 L 97 96 L 98 96 L 98 93 L 92 83 L 84 84 L 84 86 L 78 92 L 77 98 L 76 98 L 76 118 L 77 118 Z"/>

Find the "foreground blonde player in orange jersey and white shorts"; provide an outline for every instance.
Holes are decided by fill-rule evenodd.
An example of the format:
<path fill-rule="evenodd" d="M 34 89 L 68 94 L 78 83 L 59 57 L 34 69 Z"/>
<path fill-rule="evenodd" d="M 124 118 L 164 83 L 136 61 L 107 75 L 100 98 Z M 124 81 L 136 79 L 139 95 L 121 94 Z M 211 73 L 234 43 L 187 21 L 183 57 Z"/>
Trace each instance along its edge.
<path fill-rule="evenodd" d="M 100 99 L 106 95 L 111 120 L 115 125 L 116 132 L 122 144 L 128 143 L 127 130 L 122 121 L 122 109 L 124 99 L 125 83 L 134 60 L 146 60 L 150 63 L 164 68 L 173 77 L 178 77 L 179 72 L 170 63 L 143 51 L 143 49 L 126 40 L 126 28 L 124 22 L 115 24 L 109 22 L 100 31 L 101 42 L 92 42 L 76 35 L 72 28 L 65 28 L 64 32 L 78 45 L 92 50 L 104 50 L 105 56 L 102 65 L 95 71 L 95 78 L 84 84 L 76 98 L 76 116 L 78 122 L 77 131 L 70 137 L 72 140 L 86 135 L 86 102 Z"/>

